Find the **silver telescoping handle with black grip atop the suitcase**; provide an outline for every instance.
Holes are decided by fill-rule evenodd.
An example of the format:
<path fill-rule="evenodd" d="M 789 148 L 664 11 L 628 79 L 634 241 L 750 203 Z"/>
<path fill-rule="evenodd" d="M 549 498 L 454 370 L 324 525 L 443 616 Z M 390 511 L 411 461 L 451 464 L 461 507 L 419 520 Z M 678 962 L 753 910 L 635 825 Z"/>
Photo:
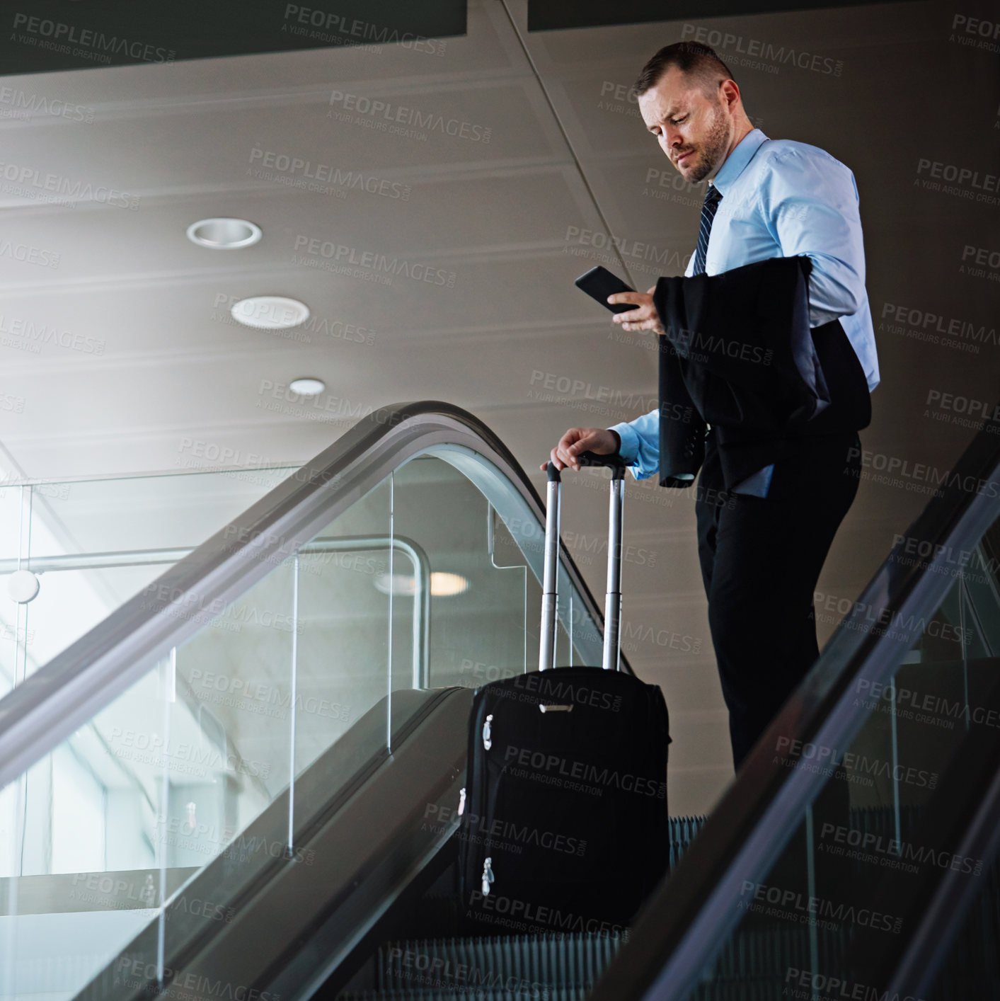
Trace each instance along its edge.
<path fill-rule="evenodd" d="M 605 671 L 621 668 L 620 633 L 622 625 L 622 508 L 625 498 L 625 461 L 618 455 L 581 452 L 581 465 L 607 465 L 612 470 L 611 499 L 608 509 L 608 594 L 605 598 Z M 549 487 L 546 496 L 546 565 L 542 583 L 542 641 L 539 648 L 539 671 L 556 666 L 556 603 L 559 598 L 559 502 L 562 477 L 559 469 L 548 465 Z"/>

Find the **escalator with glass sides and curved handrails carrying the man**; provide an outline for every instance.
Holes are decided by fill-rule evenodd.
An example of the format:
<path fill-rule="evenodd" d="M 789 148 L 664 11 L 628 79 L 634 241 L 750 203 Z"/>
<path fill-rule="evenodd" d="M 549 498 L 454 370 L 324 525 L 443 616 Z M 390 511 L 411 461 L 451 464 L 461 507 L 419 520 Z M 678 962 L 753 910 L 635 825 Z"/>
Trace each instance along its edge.
<path fill-rule="evenodd" d="M 1000 998 L 998 442 L 672 822 L 630 927 L 484 923 L 466 718 L 535 667 L 543 507 L 464 411 L 363 418 L 0 700 L 0 999 Z M 558 663 L 600 663 L 565 551 L 559 590 Z"/>

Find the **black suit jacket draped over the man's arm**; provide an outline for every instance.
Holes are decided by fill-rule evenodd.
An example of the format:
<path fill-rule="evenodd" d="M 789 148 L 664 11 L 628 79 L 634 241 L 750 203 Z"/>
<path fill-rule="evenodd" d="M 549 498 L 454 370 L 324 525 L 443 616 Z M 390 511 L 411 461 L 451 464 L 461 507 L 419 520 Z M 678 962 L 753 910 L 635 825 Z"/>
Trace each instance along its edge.
<path fill-rule="evenodd" d="M 661 278 L 660 483 L 690 486 L 717 427 L 727 488 L 815 434 L 866 427 L 864 369 L 840 322 L 809 327 L 808 257 Z"/>

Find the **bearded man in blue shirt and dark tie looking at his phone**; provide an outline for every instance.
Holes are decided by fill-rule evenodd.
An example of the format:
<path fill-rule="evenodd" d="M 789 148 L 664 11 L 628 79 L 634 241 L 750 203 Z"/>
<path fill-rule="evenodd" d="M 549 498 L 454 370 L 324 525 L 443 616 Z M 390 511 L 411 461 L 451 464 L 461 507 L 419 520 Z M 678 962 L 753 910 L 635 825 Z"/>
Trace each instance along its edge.
<path fill-rule="evenodd" d="M 839 399 L 803 428 L 750 440 L 743 456 L 754 456 L 751 465 L 759 467 L 746 468 L 738 482 L 724 482 L 720 444 L 723 457 L 729 453 L 720 435 L 738 436 L 740 428 L 708 427 L 705 434 L 698 550 L 739 768 L 819 656 L 813 594 L 857 492 L 857 432 L 870 419 L 868 393 L 879 381 L 858 192 L 851 171 L 824 150 L 770 140 L 754 128 L 739 86 L 706 45 L 661 49 L 635 89 L 643 121 L 664 154 L 686 180 L 709 182 L 686 274 L 711 276 L 806 255 L 812 339 L 839 337 L 844 345 L 842 360 L 832 356 L 828 364 L 829 375 L 843 375 Z M 615 322 L 663 334 L 655 291 L 612 295 L 609 302 L 635 306 L 617 313 Z M 838 365 L 843 372 L 833 370 Z M 579 469 L 583 451 L 618 451 L 645 478 L 659 468 L 659 425 L 660 410 L 654 410 L 610 428 L 571 427 L 552 460 L 560 469 Z"/>

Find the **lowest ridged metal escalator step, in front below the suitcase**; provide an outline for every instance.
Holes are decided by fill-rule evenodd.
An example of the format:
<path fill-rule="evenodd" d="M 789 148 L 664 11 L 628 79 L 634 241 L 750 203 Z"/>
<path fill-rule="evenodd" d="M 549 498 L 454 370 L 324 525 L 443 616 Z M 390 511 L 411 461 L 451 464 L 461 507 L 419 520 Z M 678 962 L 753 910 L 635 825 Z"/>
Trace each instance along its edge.
<path fill-rule="evenodd" d="M 601 976 L 620 944 L 618 936 L 586 933 L 389 942 L 378 950 L 377 983 L 385 991 L 481 990 L 497 998 L 569 991 L 569 999 Z"/>

